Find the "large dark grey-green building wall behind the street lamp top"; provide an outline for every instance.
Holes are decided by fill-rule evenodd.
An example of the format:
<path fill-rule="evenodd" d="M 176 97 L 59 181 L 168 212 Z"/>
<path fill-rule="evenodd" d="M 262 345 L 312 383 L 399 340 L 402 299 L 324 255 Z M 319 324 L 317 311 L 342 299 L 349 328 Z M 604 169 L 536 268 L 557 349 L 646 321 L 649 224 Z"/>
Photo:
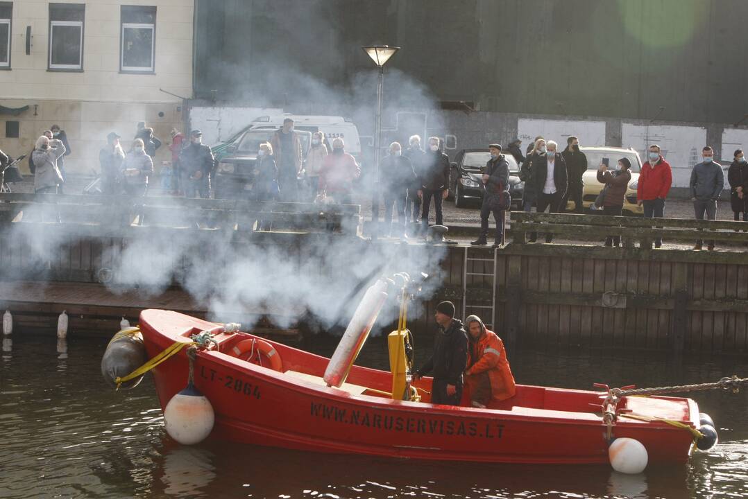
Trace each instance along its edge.
<path fill-rule="evenodd" d="M 345 93 L 373 67 L 361 46 L 387 43 L 402 47 L 387 71 L 434 102 L 706 123 L 748 112 L 744 0 L 197 0 L 196 13 L 200 97 L 289 107 L 319 86 Z"/>

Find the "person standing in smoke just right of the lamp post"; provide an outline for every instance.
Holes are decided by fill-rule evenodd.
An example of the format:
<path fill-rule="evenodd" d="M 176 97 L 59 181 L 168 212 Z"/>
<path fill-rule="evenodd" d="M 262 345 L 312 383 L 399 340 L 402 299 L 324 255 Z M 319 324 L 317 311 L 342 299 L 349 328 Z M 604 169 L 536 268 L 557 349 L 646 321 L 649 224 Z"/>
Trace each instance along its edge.
<path fill-rule="evenodd" d="M 405 205 L 408 202 L 408 187 L 416 180 L 411 161 L 402 155 L 399 142 L 390 144 L 389 154 L 384 157 L 379 167 L 381 189 L 384 195 L 384 226 L 386 234 L 407 238 L 405 224 Z M 392 227 L 393 206 L 397 227 Z"/>

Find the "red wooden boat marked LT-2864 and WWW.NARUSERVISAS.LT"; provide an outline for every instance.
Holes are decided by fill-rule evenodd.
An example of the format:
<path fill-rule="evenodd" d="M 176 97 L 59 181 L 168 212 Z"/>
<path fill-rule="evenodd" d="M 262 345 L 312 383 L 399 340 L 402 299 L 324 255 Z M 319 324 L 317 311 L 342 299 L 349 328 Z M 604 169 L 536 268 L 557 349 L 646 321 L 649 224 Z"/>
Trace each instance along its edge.
<path fill-rule="evenodd" d="M 609 437 L 629 437 L 646 447 L 650 463 L 680 463 L 699 427 L 698 406 L 687 398 L 622 397 L 606 421 L 607 391 L 517 385 L 515 397 L 486 409 L 442 406 L 429 403 L 430 378 L 410 388 L 420 402 L 393 400 L 392 373 L 355 365 L 336 388 L 325 382 L 331 359 L 221 326 L 163 310 L 140 317 L 149 358 L 213 333 L 193 371 L 215 412 L 211 438 L 327 453 L 569 464 L 607 463 Z M 264 365 L 242 360 L 256 350 Z M 162 409 L 187 375 L 184 349 L 153 370 Z"/>

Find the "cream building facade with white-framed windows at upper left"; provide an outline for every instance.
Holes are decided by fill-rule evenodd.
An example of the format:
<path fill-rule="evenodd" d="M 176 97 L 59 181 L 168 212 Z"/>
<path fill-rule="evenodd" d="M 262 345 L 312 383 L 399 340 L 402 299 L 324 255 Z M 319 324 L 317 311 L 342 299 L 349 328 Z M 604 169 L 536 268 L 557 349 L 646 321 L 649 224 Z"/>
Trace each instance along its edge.
<path fill-rule="evenodd" d="M 84 3 L 83 0 L 58 0 Z M 120 5 L 156 7 L 153 74 L 120 72 Z M 28 111 L 17 117 L 0 114 L 0 149 L 17 156 L 31 150 L 34 140 L 52 124 L 67 133 L 73 154 L 68 173 L 98 169 L 98 152 L 109 131 L 135 135 L 145 121 L 157 137 L 169 143 L 172 127 L 182 128 L 181 99 L 192 94 L 193 0 L 96 0 L 85 2 L 83 69 L 48 69 L 49 2 L 13 1 L 11 67 L 0 71 L 0 105 Z M 31 26 L 31 53 L 25 54 L 26 26 Z M 5 121 L 19 122 L 19 138 L 5 137 Z M 166 147 L 154 163 L 171 158 Z"/>

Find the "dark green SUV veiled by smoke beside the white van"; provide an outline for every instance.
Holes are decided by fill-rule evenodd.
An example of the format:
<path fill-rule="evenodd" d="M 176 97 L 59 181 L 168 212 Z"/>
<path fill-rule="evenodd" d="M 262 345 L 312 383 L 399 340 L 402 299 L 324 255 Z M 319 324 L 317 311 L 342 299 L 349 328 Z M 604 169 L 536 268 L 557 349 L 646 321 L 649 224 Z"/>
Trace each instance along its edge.
<path fill-rule="evenodd" d="M 245 131 L 225 149 L 215 170 L 213 188 L 217 199 L 249 199 L 254 185 L 254 163 L 260 144 L 270 142 L 276 128 Z M 301 152 L 307 157 L 312 134 L 296 131 L 301 139 Z"/>

